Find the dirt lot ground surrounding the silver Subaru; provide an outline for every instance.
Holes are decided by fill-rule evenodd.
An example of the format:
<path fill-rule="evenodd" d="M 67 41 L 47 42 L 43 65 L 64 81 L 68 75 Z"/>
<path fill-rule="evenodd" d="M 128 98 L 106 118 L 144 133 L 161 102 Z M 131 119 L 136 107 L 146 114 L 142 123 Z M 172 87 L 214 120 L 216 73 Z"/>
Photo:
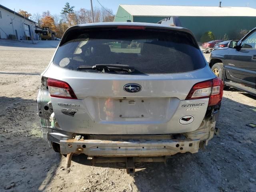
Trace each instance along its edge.
<path fill-rule="evenodd" d="M 224 91 L 220 135 L 204 152 L 145 164 L 134 177 L 116 164 L 91 166 L 83 155 L 65 169 L 66 158 L 42 139 L 36 114 L 40 73 L 56 44 L 0 40 L 1 192 L 256 191 L 256 128 L 246 126 L 256 124 L 256 97 L 232 88 Z"/>

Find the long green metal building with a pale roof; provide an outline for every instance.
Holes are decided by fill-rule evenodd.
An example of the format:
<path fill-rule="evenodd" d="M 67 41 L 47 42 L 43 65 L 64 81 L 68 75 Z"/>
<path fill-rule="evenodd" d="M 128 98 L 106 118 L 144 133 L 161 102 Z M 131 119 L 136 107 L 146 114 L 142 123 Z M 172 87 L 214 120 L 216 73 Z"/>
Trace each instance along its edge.
<path fill-rule="evenodd" d="M 179 16 L 182 27 L 190 29 L 198 41 L 209 30 L 216 39 L 225 34 L 232 39 L 241 29 L 256 27 L 256 9 L 249 7 L 119 5 L 114 22 L 157 23 L 170 16 Z"/>

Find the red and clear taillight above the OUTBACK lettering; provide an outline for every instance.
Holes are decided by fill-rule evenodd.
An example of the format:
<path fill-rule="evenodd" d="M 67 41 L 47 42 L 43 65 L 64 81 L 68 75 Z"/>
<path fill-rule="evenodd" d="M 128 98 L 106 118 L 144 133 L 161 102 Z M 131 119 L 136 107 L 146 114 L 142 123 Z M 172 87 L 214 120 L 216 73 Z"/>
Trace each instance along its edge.
<path fill-rule="evenodd" d="M 220 104 L 223 95 L 223 82 L 220 78 L 199 82 L 195 84 L 186 100 L 210 98 L 208 106 Z"/>

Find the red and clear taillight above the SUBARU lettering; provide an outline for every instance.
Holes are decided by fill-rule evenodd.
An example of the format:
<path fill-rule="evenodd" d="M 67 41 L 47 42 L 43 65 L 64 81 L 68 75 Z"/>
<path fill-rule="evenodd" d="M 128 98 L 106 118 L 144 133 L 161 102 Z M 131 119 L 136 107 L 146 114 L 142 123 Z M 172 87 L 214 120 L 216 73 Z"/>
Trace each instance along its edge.
<path fill-rule="evenodd" d="M 68 83 L 48 78 L 47 84 L 51 97 L 77 99 L 74 91 Z"/>

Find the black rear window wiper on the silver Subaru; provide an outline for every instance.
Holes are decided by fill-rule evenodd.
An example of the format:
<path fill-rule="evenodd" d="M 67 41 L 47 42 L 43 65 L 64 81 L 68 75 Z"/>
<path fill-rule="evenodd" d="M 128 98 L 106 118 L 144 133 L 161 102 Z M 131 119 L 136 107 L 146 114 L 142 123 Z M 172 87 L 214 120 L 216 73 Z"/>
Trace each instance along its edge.
<path fill-rule="evenodd" d="M 120 64 L 96 64 L 94 66 L 79 66 L 77 70 L 100 70 L 105 71 L 126 71 L 128 73 L 134 72 L 134 67 Z"/>

